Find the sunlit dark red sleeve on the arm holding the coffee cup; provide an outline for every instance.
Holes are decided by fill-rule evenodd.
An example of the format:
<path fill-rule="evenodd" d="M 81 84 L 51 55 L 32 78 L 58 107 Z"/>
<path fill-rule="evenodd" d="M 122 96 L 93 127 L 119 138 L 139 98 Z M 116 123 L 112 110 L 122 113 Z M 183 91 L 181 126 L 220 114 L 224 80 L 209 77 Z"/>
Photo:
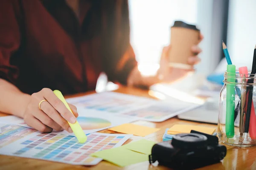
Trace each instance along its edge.
<path fill-rule="evenodd" d="M 137 66 L 133 48 L 130 44 L 130 23 L 128 0 L 104 1 L 106 13 L 103 15 L 103 48 L 105 73 L 108 79 L 121 84 L 127 83 L 131 71 Z M 112 4 L 110 4 L 112 3 Z"/>

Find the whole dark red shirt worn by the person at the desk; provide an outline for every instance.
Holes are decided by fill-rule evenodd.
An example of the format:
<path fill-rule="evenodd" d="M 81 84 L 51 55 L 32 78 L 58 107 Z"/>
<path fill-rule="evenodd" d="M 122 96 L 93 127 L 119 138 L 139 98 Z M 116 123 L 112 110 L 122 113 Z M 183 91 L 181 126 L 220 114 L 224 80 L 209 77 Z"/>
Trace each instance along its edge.
<path fill-rule="evenodd" d="M 24 93 L 94 90 L 101 72 L 125 84 L 137 65 L 129 43 L 127 1 L 0 1 L 0 78 Z"/>

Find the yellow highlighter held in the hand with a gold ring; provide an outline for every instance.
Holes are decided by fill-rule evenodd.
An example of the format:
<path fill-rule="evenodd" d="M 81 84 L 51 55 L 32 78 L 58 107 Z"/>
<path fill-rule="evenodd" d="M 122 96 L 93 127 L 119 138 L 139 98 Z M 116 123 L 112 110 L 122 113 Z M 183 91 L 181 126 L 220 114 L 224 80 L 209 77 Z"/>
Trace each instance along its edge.
<path fill-rule="evenodd" d="M 69 105 L 67 104 L 66 100 L 64 99 L 64 96 L 61 94 L 60 91 L 55 90 L 53 91 L 53 93 L 61 100 L 61 102 L 64 103 L 64 105 L 67 107 L 67 109 L 73 113 L 69 107 Z M 79 123 L 76 121 L 76 123 L 72 124 L 70 122 L 68 122 L 68 124 L 70 125 L 71 129 L 73 130 L 73 132 L 75 133 L 75 136 L 78 140 L 79 143 L 84 143 L 87 141 L 87 136 L 84 134 L 83 129 L 81 128 L 81 126 L 79 125 Z"/>

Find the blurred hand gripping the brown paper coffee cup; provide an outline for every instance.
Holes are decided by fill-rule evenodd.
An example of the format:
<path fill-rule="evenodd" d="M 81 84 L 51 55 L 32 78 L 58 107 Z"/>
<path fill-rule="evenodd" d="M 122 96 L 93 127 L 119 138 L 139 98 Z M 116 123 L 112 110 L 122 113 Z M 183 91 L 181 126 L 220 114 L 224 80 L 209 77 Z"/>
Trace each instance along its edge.
<path fill-rule="evenodd" d="M 203 35 L 200 34 L 200 41 L 203 39 Z M 160 69 L 157 72 L 157 77 L 160 79 L 160 82 L 173 82 L 178 79 L 181 79 L 185 77 L 188 73 L 193 72 L 194 70 L 187 70 L 187 69 L 181 69 L 181 68 L 172 68 L 169 67 L 169 51 L 172 50 L 172 46 L 166 46 L 163 48 L 163 52 L 160 59 Z M 190 65 L 196 65 L 198 64 L 201 59 L 197 56 L 199 53 L 202 52 L 201 48 L 199 48 L 197 45 L 194 45 L 191 47 L 191 51 L 194 56 L 190 56 L 188 58 L 188 63 Z"/>

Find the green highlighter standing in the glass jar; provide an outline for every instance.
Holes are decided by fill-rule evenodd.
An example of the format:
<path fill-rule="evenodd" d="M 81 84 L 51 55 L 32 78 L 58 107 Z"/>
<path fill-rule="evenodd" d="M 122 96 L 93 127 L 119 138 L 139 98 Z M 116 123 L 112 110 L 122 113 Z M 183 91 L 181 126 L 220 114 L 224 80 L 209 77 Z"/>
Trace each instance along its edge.
<path fill-rule="evenodd" d="M 236 65 L 227 65 L 227 82 L 235 84 Z M 233 138 L 235 134 L 234 116 L 235 116 L 235 85 L 227 84 L 227 102 L 226 102 L 226 135 L 227 138 Z"/>

